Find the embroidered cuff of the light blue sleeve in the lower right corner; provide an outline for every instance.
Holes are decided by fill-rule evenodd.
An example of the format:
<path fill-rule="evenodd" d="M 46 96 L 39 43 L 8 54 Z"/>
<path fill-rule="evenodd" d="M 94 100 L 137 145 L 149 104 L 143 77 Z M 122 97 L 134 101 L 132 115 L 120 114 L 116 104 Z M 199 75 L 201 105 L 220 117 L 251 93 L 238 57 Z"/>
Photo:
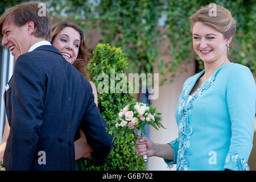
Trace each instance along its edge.
<path fill-rule="evenodd" d="M 229 152 L 226 156 L 224 170 L 250 171 L 247 160 L 242 159 L 237 152 Z"/>

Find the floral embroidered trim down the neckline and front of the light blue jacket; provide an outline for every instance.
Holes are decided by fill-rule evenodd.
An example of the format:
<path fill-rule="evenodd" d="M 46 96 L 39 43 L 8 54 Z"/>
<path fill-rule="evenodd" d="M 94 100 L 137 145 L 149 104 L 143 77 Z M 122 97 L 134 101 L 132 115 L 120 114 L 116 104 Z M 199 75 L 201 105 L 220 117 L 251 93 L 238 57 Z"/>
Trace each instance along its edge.
<path fill-rule="evenodd" d="M 197 89 L 196 93 L 193 95 L 191 100 L 187 102 L 188 92 L 191 90 L 191 85 L 193 81 L 191 81 L 185 88 L 183 89 L 183 92 L 180 95 L 180 104 L 177 110 L 177 114 L 180 117 L 179 123 L 178 123 L 178 129 L 179 129 L 179 138 L 177 139 L 179 141 L 179 150 L 177 151 L 177 157 L 179 157 L 179 163 L 177 163 L 177 170 L 178 171 L 187 171 L 189 167 L 189 160 L 188 156 L 192 154 L 192 152 L 189 150 L 189 147 L 191 146 L 191 134 L 193 133 L 193 129 L 188 121 L 188 114 L 191 115 L 191 108 L 193 101 L 196 100 L 196 98 L 200 97 L 201 94 L 210 88 L 210 86 L 213 84 L 214 77 L 210 77 L 205 83 Z M 170 166 L 171 167 L 171 166 Z"/>

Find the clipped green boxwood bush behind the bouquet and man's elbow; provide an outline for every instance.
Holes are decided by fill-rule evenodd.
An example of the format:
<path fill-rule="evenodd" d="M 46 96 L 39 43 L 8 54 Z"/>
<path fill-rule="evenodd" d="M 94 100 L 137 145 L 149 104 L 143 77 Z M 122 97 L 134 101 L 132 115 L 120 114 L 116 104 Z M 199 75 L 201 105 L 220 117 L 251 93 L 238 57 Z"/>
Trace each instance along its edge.
<path fill-rule="evenodd" d="M 88 72 L 96 88 L 98 88 L 98 86 L 100 87 L 104 81 L 104 79 L 101 80 L 98 76 L 101 73 L 108 75 L 109 86 L 105 87 L 105 93 L 98 93 L 98 108 L 108 126 L 113 127 L 115 125 L 113 121 L 116 119 L 119 110 L 122 109 L 125 104 L 133 100 L 133 94 L 110 92 L 110 69 L 114 69 L 115 76 L 117 76 L 118 73 L 124 73 L 127 69 L 127 58 L 124 56 L 121 48 L 110 47 L 109 44 L 98 44 L 93 51 L 93 59 L 89 64 Z M 116 80 L 115 85 L 117 85 L 118 82 L 119 81 Z M 127 90 L 129 88 L 128 86 L 127 84 Z M 98 167 L 92 165 L 91 159 L 85 159 L 86 171 L 145 170 L 146 165 L 142 158 L 138 158 L 135 154 L 135 140 L 134 135 L 115 138 L 114 148 L 105 163 Z"/>

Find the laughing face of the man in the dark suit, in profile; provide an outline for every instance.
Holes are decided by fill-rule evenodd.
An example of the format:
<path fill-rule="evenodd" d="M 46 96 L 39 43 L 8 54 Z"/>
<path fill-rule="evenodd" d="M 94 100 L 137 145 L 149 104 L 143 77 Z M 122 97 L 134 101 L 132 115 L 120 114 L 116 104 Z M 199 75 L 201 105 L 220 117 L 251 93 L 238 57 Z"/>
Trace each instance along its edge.
<path fill-rule="evenodd" d="M 2 33 L 2 46 L 6 46 L 11 51 L 15 60 L 30 48 L 31 39 L 28 36 L 27 24 L 16 26 L 13 22 L 6 20 L 2 26 Z"/>

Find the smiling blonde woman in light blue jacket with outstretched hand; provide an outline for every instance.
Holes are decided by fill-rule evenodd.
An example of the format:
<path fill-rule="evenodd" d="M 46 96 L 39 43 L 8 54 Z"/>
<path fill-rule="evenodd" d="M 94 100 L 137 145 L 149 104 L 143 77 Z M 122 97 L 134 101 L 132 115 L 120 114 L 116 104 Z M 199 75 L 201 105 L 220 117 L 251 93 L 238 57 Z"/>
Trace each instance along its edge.
<path fill-rule="evenodd" d="M 168 144 L 136 141 L 138 156 L 163 158 L 177 170 L 249 170 L 253 147 L 256 86 L 249 68 L 231 63 L 236 31 L 230 12 L 216 5 L 191 16 L 193 49 L 205 70 L 189 77 L 176 107 L 178 138 Z"/>

